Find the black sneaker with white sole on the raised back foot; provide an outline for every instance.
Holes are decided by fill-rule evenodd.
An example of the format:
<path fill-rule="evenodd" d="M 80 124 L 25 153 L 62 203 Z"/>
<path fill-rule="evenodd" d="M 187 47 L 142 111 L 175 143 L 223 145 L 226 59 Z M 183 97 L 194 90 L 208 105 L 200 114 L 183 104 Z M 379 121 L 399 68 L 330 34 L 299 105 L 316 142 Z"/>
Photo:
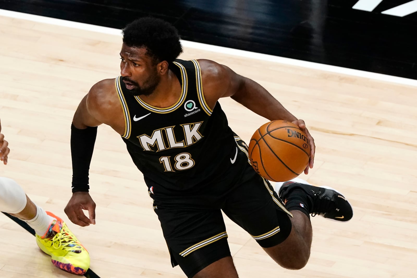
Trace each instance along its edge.
<path fill-rule="evenodd" d="M 353 216 L 352 206 L 347 199 L 334 188 L 317 187 L 295 181 L 287 181 L 276 188 L 279 197 L 286 202 L 294 189 L 302 189 L 310 201 L 308 206 L 311 216 L 321 215 L 324 218 L 337 221 L 349 221 Z"/>

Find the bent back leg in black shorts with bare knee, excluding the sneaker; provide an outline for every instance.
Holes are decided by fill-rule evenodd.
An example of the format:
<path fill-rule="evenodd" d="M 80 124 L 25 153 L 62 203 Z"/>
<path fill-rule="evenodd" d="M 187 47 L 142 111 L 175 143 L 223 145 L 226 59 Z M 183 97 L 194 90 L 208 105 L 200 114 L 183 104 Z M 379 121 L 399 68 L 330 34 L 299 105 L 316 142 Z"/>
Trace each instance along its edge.
<path fill-rule="evenodd" d="M 250 165 L 248 165 L 250 167 Z M 311 246 L 311 226 L 303 216 L 291 215 L 278 198 L 272 186 L 253 169 L 242 175 L 241 184 L 229 193 L 224 213 L 244 228 L 266 250 L 276 263 L 288 269 L 300 269 L 306 264 Z M 291 217 L 300 221 L 291 222 Z M 282 245 L 291 242 L 290 245 Z M 282 253 L 278 249 L 283 246 Z M 288 246 L 288 248 L 286 247 Z"/>

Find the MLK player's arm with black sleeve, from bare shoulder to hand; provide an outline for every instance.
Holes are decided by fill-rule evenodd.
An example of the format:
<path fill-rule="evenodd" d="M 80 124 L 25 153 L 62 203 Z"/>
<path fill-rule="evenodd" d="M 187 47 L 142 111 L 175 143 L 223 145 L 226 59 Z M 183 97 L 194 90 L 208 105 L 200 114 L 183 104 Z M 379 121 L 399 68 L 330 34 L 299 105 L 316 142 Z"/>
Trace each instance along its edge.
<path fill-rule="evenodd" d="M 109 114 L 106 112 L 106 94 L 114 87 L 113 84 L 114 79 L 102 80 L 95 84 L 78 105 L 71 125 L 73 195 L 64 211 L 71 222 L 80 226 L 95 224 L 95 203 L 88 193 L 88 172 L 97 126 L 105 123 Z M 83 209 L 88 210 L 89 218 L 85 216 Z"/>

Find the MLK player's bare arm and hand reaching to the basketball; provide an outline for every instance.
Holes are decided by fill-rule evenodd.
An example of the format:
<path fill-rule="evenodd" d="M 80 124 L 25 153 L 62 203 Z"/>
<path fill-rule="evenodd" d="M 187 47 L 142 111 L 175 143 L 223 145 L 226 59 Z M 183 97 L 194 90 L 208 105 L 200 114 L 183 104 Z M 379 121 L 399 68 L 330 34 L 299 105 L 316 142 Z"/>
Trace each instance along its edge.
<path fill-rule="evenodd" d="M 254 80 L 241 76 L 225 65 L 211 60 L 198 60 L 201 67 L 204 98 L 213 109 L 219 98 L 231 97 L 268 120 L 288 120 L 306 133 L 311 145 L 310 162 L 304 170 L 313 168 L 315 145 L 314 139 L 306 128 L 304 120 L 297 119 L 279 103 L 265 88 Z"/>

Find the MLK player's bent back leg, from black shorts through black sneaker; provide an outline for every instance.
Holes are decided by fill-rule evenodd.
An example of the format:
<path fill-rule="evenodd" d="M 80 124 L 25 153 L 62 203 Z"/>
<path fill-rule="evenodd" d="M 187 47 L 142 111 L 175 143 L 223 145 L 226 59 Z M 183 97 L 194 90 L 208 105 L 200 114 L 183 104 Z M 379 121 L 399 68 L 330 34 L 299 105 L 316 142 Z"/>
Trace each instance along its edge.
<path fill-rule="evenodd" d="M 288 190 L 290 194 L 283 193 L 287 201 L 284 206 L 269 182 L 251 174 L 249 169 L 242 175 L 239 188 L 228 196 L 224 212 L 248 231 L 276 263 L 284 268 L 300 269 L 306 265 L 310 255 L 312 231 L 309 213 L 314 209 L 322 210 L 317 213 L 330 213 L 336 210 L 338 204 L 334 200 L 339 202 L 338 199 L 345 202 L 339 210 L 343 208 L 347 217 L 349 211 L 352 212 L 346 199 L 334 199 L 335 195 L 330 191 L 327 192 L 331 193 L 330 199 L 324 198 L 322 193 L 317 195 L 317 188 L 306 188 L 309 186 L 298 185 L 294 187 L 298 190 L 291 188 Z M 310 189 L 317 191 L 310 192 Z"/>

